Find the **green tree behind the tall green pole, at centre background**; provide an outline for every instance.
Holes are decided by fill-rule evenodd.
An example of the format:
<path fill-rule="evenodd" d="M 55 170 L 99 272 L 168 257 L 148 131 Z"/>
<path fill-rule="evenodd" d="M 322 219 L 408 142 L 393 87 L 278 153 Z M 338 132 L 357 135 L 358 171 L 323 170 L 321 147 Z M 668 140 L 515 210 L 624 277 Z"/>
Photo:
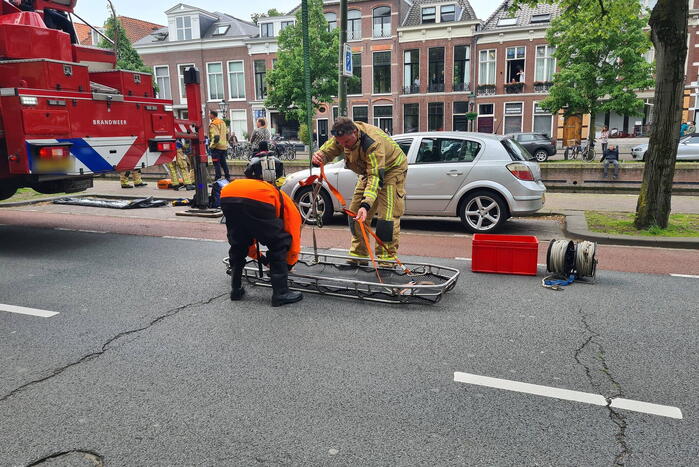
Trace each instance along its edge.
<path fill-rule="evenodd" d="M 322 0 L 308 1 L 310 35 L 311 97 L 317 110 L 323 102 L 332 102 L 337 94 L 339 37 L 328 31 Z M 265 106 L 284 114 L 288 120 L 306 121 L 306 94 L 303 81 L 303 37 L 301 10 L 296 25 L 279 35 L 279 52 L 274 68 L 267 72 Z"/>

